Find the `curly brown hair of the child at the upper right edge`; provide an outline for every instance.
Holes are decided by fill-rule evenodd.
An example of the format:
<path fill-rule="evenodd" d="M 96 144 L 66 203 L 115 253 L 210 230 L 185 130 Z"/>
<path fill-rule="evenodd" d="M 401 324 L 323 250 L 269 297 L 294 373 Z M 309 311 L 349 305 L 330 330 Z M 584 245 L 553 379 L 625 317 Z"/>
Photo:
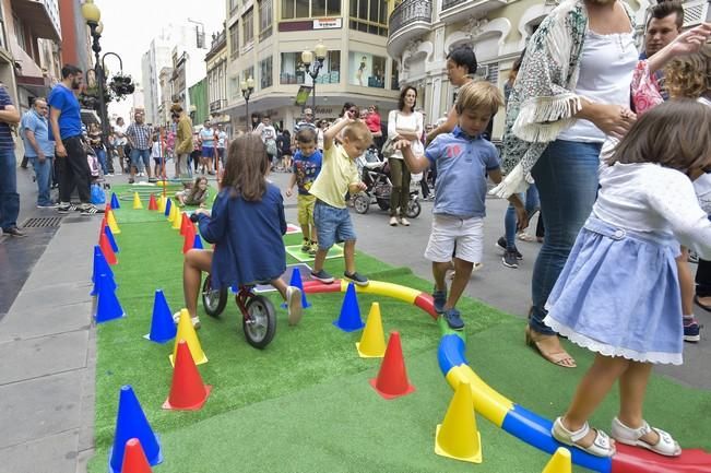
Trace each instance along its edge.
<path fill-rule="evenodd" d="M 699 98 L 711 90 L 711 45 L 675 58 L 664 68 L 664 88 L 672 97 Z"/>

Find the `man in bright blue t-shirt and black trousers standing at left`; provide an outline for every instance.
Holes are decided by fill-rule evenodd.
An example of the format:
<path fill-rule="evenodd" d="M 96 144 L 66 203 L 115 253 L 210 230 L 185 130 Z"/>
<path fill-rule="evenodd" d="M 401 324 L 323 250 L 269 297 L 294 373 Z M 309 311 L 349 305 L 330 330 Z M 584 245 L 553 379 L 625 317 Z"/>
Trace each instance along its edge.
<path fill-rule="evenodd" d="M 82 117 L 74 91 L 82 84 L 82 70 L 76 66 L 64 64 L 62 80 L 49 93 L 49 139 L 56 142 L 59 174 L 59 213 L 72 210 L 71 196 L 76 188 L 82 215 L 99 211 L 90 203 L 90 170 L 86 151 L 82 140 Z"/>

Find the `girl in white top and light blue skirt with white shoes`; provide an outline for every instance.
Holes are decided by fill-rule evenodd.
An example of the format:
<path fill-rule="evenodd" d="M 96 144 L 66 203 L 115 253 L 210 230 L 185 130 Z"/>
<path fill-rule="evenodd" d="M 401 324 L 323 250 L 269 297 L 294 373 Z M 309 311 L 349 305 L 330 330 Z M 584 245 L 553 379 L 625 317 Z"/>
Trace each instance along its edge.
<path fill-rule="evenodd" d="M 615 444 L 588 418 L 619 381 L 612 437 L 663 456 L 682 453 L 642 416 L 654 364 L 682 364 L 679 244 L 711 257 L 711 222 L 692 181 L 711 170 L 711 107 L 660 105 L 632 126 L 600 176 L 600 193 L 548 297 L 544 322 L 595 359 L 552 429 L 560 442 L 609 457 Z"/>

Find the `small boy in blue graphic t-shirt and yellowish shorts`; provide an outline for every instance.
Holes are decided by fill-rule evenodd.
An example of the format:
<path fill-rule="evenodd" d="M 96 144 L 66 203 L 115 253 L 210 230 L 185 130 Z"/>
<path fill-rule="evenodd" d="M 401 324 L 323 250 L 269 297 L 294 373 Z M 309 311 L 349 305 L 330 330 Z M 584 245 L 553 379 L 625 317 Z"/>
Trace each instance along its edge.
<path fill-rule="evenodd" d="M 316 197 L 309 193 L 311 185 L 321 172 L 323 156 L 316 149 L 316 132 L 309 127 L 301 127 L 296 133 L 298 150 L 294 155 L 294 173 L 286 188 L 286 197 L 292 197 L 292 188 L 297 185 L 298 221 L 304 234 L 301 251 L 315 256 L 319 249 L 316 225 L 313 224 L 313 206 Z"/>

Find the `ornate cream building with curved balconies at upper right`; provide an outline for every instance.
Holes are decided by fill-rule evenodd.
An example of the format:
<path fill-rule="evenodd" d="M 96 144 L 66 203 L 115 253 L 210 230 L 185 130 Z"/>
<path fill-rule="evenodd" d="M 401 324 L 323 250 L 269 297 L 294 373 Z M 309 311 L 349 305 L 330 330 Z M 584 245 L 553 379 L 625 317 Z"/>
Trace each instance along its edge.
<path fill-rule="evenodd" d="M 418 105 L 435 123 L 451 108 L 455 87 L 446 74 L 447 55 L 470 45 L 479 63 L 478 79 L 501 88 L 513 61 L 555 0 L 404 0 L 390 15 L 388 54 L 400 67 L 402 84 L 418 90 Z M 706 3 L 706 1 L 704 1 Z M 644 26 L 648 0 L 629 0 L 638 28 Z M 500 139 L 503 114 L 497 114 L 493 138 Z"/>

